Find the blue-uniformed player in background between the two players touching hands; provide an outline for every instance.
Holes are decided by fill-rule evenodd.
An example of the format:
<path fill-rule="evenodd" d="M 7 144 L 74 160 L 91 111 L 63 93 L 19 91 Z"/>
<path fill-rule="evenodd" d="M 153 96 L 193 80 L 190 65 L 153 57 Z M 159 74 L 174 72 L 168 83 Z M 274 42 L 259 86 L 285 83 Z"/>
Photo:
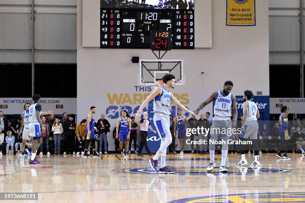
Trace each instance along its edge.
<path fill-rule="evenodd" d="M 183 156 L 183 147 L 185 144 L 185 136 L 186 136 L 186 125 L 190 127 L 187 118 L 182 114 L 182 110 L 178 110 L 178 115 L 175 118 L 175 126 L 174 126 L 174 136 L 179 139 L 179 147 L 180 154 L 179 156 Z"/>

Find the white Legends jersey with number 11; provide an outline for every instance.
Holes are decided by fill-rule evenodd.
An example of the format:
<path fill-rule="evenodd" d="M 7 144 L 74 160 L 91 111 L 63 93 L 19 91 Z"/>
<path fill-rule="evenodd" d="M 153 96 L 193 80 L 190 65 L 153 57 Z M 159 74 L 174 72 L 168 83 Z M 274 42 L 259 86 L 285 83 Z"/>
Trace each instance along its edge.
<path fill-rule="evenodd" d="M 216 100 L 214 100 L 214 120 L 229 120 L 232 116 L 232 98 L 233 95 L 229 93 L 223 96 L 221 91 L 217 91 Z"/>

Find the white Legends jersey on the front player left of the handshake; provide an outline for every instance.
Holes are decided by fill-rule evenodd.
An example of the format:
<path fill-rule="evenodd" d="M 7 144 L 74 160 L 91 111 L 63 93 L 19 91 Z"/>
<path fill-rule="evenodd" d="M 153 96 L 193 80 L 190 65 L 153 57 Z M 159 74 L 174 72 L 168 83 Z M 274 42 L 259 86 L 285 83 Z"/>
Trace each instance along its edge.
<path fill-rule="evenodd" d="M 170 91 L 167 91 L 163 86 L 161 86 L 161 88 L 162 94 L 156 96 L 153 100 L 153 112 L 159 112 L 170 115 L 169 105 L 172 94 Z"/>

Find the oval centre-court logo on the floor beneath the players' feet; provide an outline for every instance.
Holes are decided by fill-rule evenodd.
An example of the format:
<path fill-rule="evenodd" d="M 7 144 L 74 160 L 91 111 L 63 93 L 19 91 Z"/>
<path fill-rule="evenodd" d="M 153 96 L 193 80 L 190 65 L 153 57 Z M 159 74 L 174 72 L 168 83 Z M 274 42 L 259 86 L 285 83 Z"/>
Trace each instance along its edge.
<path fill-rule="evenodd" d="M 246 168 L 246 167 L 244 167 Z M 214 174 L 219 175 L 219 168 L 214 168 L 212 172 L 207 172 L 206 167 L 170 167 L 171 170 L 176 171 L 178 175 L 207 175 Z M 272 168 L 262 168 L 262 167 L 252 167 L 245 170 L 240 170 L 238 167 L 228 167 L 228 175 L 251 175 L 251 174 L 266 174 L 266 173 L 285 173 L 291 172 L 292 170 L 288 169 L 272 169 Z M 156 174 L 157 172 L 153 171 L 151 168 L 132 168 L 132 169 L 118 169 L 112 170 L 114 172 L 120 173 L 142 173 L 142 174 Z"/>

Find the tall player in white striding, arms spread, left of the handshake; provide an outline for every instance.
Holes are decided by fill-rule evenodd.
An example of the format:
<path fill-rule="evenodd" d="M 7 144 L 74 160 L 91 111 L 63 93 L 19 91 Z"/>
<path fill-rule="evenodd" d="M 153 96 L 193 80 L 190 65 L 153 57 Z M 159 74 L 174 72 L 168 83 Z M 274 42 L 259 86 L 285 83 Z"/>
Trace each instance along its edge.
<path fill-rule="evenodd" d="M 194 112 L 188 110 L 185 106 L 183 106 L 170 92 L 170 89 L 175 87 L 175 77 L 171 74 L 166 74 L 162 81 L 164 83 L 163 86 L 159 86 L 155 88 L 150 96 L 142 103 L 140 106 L 140 109 L 138 110 L 138 113 L 136 114 L 136 120 L 140 120 L 143 108 L 147 106 L 147 104 L 153 100 L 153 123 L 156 127 L 156 130 L 158 132 L 159 137 L 161 138 L 161 144 L 159 150 L 156 152 L 156 154 L 153 156 L 153 158 L 149 161 L 152 170 L 159 172 L 160 174 L 170 174 L 175 173 L 174 171 L 171 171 L 166 165 L 165 165 L 165 158 L 166 158 L 166 148 L 171 144 L 171 133 L 169 130 L 170 127 L 170 121 L 169 121 L 169 115 L 170 115 L 170 102 L 173 102 L 177 105 L 180 109 L 189 112 L 193 115 L 195 115 Z M 158 162 L 157 160 L 161 156 L 161 166 L 158 168 Z"/>

